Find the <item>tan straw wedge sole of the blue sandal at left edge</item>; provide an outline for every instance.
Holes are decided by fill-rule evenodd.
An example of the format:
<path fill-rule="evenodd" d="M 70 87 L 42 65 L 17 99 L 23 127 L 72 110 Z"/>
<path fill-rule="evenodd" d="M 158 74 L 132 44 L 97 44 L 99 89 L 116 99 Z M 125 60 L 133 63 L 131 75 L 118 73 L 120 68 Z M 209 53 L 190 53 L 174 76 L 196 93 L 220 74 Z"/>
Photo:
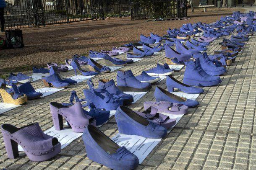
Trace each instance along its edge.
<path fill-rule="evenodd" d="M 0 88 L 0 94 L 3 98 L 3 103 L 12 103 L 14 105 L 21 105 L 28 101 L 28 97 L 26 95 L 17 99 L 13 99 L 13 97 L 9 93 L 7 93 L 4 89 L 1 89 L 1 88 Z"/>

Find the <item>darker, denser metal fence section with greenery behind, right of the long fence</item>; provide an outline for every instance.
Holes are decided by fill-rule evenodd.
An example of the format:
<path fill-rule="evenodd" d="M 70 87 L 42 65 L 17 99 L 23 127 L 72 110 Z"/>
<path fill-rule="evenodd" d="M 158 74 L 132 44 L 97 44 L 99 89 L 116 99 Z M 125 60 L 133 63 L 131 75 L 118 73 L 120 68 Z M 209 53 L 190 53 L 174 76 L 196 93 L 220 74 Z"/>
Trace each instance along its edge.
<path fill-rule="evenodd" d="M 131 0 L 131 19 L 182 18 L 187 16 L 186 0 Z"/>

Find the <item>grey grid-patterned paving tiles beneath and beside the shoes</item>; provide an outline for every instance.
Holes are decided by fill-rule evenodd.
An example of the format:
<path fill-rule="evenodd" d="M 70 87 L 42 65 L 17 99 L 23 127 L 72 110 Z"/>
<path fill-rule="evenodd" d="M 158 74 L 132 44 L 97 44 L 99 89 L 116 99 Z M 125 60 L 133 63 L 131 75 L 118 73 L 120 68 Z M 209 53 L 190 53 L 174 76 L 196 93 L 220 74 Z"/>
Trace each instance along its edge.
<path fill-rule="evenodd" d="M 229 37 L 227 37 L 229 38 Z M 217 39 L 208 46 L 208 54 L 219 50 Z M 235 62 L 227 67 L 226 75 L 222 75 L 222 83 L 214 87 L 204 87 L 205 93 L 199 95 L 200 105 L 190 108 L 175 128 L 162 139 L 138 169 L 256 169 L 256 139 L 255 135 L 255 103 L 256 103 L 256 36 L 247 42 Z M 123 70 L 131 69 L 135 75 L 142 70 L 164 61 L 165 53 L 161 52 L 153 57 L 142 59 Z M 99 60 L 100 63 L 103 61 Z M 85 66 L 86 68 L 87 66 Z M 185 68 L 175 72 L 174 77 L 182 80 Z M 62 73 L 64 77 L 74 75 L 74 71 Z M 98 85 L 100 78 L 114 79 L 116 71 L 97 75 L 93 78 L 94 85 Z M 34 88 L 41 88 L 41 81 L 33 82 Z M 166 88 L 165 80 L 157 86 Z M 82 89 L 88 88 L 86 82 L 71 85 L 60 92 L 42 99 L 30 100 L 24 106 L 15 108 L 0 115 L 0 124 L 8 123 L 24 126 L 32 122 L 39 122 L 43 130 L 53 126 L 50 113 L 50 101 L 68 102 L 72 90 L 76 90 L 82 97 Z M 143 98 L 129 107 L 140 111 L 143 102 L 154 99 L 154 88 Z M 0 99 L 2 100 L 2 99 Z M 99 128 L 109 137 L 118 133 L 115 118 L 110 118 L 107 124 Z M 24 152 L 20 157 L 8 159 L 2 134 L 0 134 L 0 168 L 10 170 L 33 169 L 107 169 L 86 157 L 82 138 L 79 137 L 59 155 L 45 162 L 32 162 Z"/>

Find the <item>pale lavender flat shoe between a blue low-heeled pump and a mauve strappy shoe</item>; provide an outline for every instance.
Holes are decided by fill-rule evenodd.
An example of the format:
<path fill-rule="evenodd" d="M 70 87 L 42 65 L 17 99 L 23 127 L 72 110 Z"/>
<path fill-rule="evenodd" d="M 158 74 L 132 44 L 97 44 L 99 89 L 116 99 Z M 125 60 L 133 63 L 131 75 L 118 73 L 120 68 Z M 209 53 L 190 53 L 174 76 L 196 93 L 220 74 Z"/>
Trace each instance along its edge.
<path fill-rule="evenodd" d="M 168 115 L 175 114 L 186 114 L 188 113 L 188 106 L 179 103 L 170 103 L 168 101 L 146 101 L 144 102 L 144 110 L 150 107 L 157 108 L 159 113 L 164 113 Z"/>

